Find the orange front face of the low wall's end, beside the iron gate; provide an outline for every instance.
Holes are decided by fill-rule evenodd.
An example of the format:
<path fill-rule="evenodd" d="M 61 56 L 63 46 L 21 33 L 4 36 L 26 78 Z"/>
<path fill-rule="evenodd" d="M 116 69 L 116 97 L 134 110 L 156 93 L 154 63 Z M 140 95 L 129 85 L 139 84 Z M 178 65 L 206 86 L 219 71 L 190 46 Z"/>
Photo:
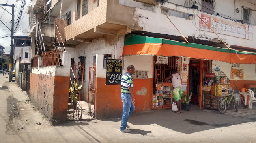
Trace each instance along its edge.
<path fill-rule="evenodd" d="M 55 76 L 52 119 L 67 119 L 69 77 Z"/>

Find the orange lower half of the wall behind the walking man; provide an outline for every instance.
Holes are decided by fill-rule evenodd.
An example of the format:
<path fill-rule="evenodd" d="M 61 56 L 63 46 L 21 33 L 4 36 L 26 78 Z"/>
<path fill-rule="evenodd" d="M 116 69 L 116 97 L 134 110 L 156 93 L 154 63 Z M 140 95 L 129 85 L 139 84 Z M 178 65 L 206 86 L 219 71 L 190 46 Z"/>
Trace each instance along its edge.
<path fill-rule="evenodd" d="M 106 78 L 96 78 L 96 119 L 120 117 L 123 111 L 121 102 L 121 85 L 105 85 Z M 135 111 L 151 109 L 153 94 L 153 79 L 133 79 L 133 90 L 136 97 Z M 137 95 L 136 92 L 142 87 L 147 89 L 146 95 Z"/>

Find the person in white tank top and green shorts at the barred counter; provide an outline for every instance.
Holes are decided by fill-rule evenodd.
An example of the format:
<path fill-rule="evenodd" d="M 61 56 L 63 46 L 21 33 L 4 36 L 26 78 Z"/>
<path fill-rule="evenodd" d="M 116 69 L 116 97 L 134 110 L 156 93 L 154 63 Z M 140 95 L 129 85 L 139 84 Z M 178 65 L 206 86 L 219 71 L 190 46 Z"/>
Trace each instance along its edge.
<path fill-rule="evenodd" d="M 180 75 L 177 73 L 176 70 L 172 70 L 172 74 L 168 76 L 167 78 L 164 79 L 164 81 L 172 79 L 172 86 L 174 87 L 173 89 L 173 94 L 174 94 L 174 99 L 176 101 L 176 105 L 178 110 L 173 111 L 175 113 L 181 113 L 181 98 L 183 94 L 183 89 L 182 89 L 182 84 L 180 81 Z"/>

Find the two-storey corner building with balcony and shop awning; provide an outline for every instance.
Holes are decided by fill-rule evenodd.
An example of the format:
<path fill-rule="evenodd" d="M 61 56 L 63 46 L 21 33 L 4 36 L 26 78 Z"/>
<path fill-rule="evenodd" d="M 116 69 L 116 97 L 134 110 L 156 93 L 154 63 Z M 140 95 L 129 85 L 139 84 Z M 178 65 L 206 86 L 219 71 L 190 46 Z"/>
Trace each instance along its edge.
<path fill-rule="evenodd" d="M 31 57 L 44 51 L 39 27 L 46 51 L 63 50 L 62 39 L 71 61 L 84 64 L 83 97 L 90 102 L 92 95 L 96 118 L 121 115 L 120 85 L 110 83 L 118 83 L 128 65 L 136 70 L 135 111 L 170 107 L 163 104 L 171 97 L 154 102 L 158 85 L 171 86 L 163 84 L 170 70 L 179 71 L 184 93 L 193 91 L 191 100 L 202 108 L 202 79 L 214 69 L 230 79 L 230 87 L 256 84 L 255 9 L 254 0 L 33 0 L 27 11 L 35 43 Z M 108 75 L 107 59 L 123 59 L 121 73 Z M 93 89 L 91 63 L 96 65 Z"/>

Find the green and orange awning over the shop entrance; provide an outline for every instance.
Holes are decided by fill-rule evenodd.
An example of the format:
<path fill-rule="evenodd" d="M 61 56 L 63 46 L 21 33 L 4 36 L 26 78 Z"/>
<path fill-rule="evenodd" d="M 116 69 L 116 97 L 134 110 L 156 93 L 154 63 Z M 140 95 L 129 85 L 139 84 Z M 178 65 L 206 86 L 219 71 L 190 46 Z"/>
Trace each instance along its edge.
<path fill-rule="evenodd" d="M 217 60 L 228 63 L 254 64 L 256 53 L 236 51 L 194 44 L 127 34 L 123 48 L 123 56 L 155 55 L 155 56 L 184 56 L 196 59 Z"/>

